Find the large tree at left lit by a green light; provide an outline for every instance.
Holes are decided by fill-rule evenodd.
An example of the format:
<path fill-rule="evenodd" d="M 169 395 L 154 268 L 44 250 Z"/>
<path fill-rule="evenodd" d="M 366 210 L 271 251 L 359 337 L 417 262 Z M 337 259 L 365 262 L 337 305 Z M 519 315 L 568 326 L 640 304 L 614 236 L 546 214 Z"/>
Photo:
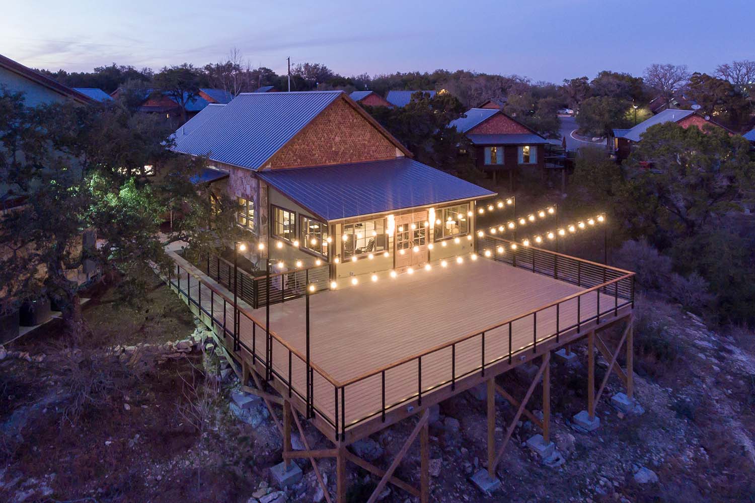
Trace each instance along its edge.
<path fill-rule="evenodd" d="M 181 239 L 206 250 L 217 240 L 207 190 L 196 190 L 189 179 L 205 160 L 166 150 L 170 130 L 164 124 L 117 104 L 24 109 L 18 103 L 17 95 L 0 94 L 0 109 L 14 113 L 0 124 L 0 161 L 10 168 L 2 170 L 3 181 L 27 196 L 25 205 L 0 219 L 3 298 L 51 296 L 63 311 L 66 333 L 79 344 L 88 327 L 71 273 L 82 260 L 105 276 L 125 275 L 122 287 L 134 294 L 143 291 L 146 272 L 167 265 L 166 242 Z M 162 176 L 140 176 L 144 162 L 160 163 Z M 214 222 L 233 228 L 233 205 L 224 202 Z M 186 216 L 161 235 L 162 215 L 175 207 Z M 83 246 L 88 232 L 97 236 L 97 247 Z"/>

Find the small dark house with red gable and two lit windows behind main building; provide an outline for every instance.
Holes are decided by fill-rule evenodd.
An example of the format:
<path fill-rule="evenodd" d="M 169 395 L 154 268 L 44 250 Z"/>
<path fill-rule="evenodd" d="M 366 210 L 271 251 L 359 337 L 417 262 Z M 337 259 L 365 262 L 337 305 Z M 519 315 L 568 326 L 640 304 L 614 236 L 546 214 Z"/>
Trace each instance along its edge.
<path fill-rule="evenodd" d="M 507 171 L 513 189 L 513 175 L 519 169 L 545 167 L 548 142 L 534 130 L 500 109 L 470 109 L 464 115 L 449 125 L 467 136 L 477 167 L 492 173 L 494 180 L 498 172 Z"/>

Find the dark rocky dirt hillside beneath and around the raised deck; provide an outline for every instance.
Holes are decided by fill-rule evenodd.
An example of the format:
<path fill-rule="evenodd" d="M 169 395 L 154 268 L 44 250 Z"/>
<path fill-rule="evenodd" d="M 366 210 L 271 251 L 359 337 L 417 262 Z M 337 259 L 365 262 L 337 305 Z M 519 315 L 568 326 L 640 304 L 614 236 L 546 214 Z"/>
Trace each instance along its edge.
<path fill-rule="evenodd" d="M 308 462 L 300 464 L 304 480 L 296 486 L 280 495 L 266 489 L 270 467 L 281 461 L 281 437 L 261 408 L 263 419 L 252 424 L 234 415 L 233 373 L 205 400 L 200 428 L 196 414 L 186 413 L 197 401 L 187 383 L 199 389 L 214 379 L 207 369 L 220 367 L 216 356 L 202 351 L 165 359 L 155 349 L 196 333 L 186 305 L 157 284 L 149 313 L 123 305 L 109 290 L 99 295 L 85 308 L 99 334 L 85 354 L 72 356 L 51 328 L 6 348 L 28 358 L 0 360 L 0 501 L 243 503 L 268 492 L 278 503 L 320 501 Z M 613 347 L 618 333 L 607 336 Z M 127 357 L 105 351 L 136 342 L 154 346 Z M 624 391 L 612 376 L 597 405 L 600 428 L 576 431 L 572 416 L 587 401 L 587 357 L 584 345 L 576 346 L 581 363 L 570 367 L 554 358 L 552 367 L 551 431 L 565 462 L 544 465 L 524 445 L 538 428 L 522 421 L 496 471 L 502 487 L 492 495 L 468 480 L 485 466 L 485 402 L 465 393 L 442 403 L 430 427 L 430 459 L 439 468 L 431 501 L 755 501 L 753 334 L 718 333 L 678 306 L 643 299 L 635 348 L 636 397 L 645 413 L 624 416 L 610 406 L 609 398 Z M 606 367 L 599 357 L 597 383 Z M 529 382 L 513 372 L 499 384 L 521 397 Z M 532 409 L 540 408 L 540 393 Z M 77 400 L 83 401 L 78 415 Z M 499 442 L 513 413 L 505 400 L 498 403 Z M 361 448 L 387 467 L 414 421 L 374 435 Z M 313 448 L 329 447 L 312 428 L 307 439 Z M 319 467 L 334 489 L 333 461 L 322 459 Z M 418 485 L 418 467 L 418 449 L 411 449 L 396 475 Z M 638 483 L 634 474 L 643 467 L 658 482 Z M 349 501 L 365 501 L 377 484 L 351 465 L 349 477 Z M 390 487 L 381 501 L 418 500 Z"/>

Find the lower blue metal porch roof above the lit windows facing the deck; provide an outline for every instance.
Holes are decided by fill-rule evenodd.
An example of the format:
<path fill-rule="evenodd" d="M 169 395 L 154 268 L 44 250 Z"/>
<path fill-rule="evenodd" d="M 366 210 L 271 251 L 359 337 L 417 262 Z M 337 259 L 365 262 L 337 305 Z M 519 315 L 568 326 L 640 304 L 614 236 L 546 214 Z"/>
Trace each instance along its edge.
<path fill-rule="evenodd" d="M 257 175 L 325 221 L 495 195 L 488 189 L 403 157 L 263 170 Z"/>

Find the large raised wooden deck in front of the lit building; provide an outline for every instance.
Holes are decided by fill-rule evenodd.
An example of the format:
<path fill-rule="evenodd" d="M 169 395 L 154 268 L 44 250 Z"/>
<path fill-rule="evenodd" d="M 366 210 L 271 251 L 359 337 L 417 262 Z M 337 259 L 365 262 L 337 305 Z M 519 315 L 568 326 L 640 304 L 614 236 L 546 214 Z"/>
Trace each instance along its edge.
<path fill-rule="evenodd" d="M 310 361 L 316 366 L 313 405 L 328 422 L 338 425 L 337 430 L 343 428 L 344 420 L 348 428 L 368 416 L 379 416 L 384 403 L 390 409 L 416 397 L 420 390 L 427 393 L 450 386 L 452 376 L 460 379 L 479 370 L 483 345 L 485 364 L 490 364 L 508 357 L 510 350 L 516 354 L 532 348 L 535 330 L 538 342 L 552 338 L 556 333 L 556 312 L 563 330 L 578 324 L 578 309 L 581 321 L 585 321 L 595 317 L 598 308 L 597 290 L 578 299 L 575 294 L 585 288 L 482 257 L 475 262 L 467 259 L 461 265 L 453 262 L 448 268 L 435 265 L 432 271 L 381 278 L 376 283 L 360 279 L 356 287 L 310 296 Z M 197 285 L 195 281 L 190 287 L 193 299 L 199 297 Z M 232 295 L 219 288 L 225 295 Z M 605 314 L 617 298 L 599 295 L 600 311 Z M 570 296 L 558 308 L 553 305 L 535 317 L 525 316 L 510 326 L 488 330 Z M 205 312 L 211 311 L 209 288 L 202 289 L 201 298 Z M 306 354 L 305 302 L 302 298 L 270 306 L 270 331 L 300 355 Z M 216 321 L 223 319 L 223 300 L 217 295 L 212 311 Z M 254 348 L 257 359 L 263 360 L 265 309 L 251 310 L 247 306 L 244 311 L 239 330 L 242 342 L 246 348 Z M 256 328 L 250 317 L 257 322 Z M 230 305 L 226 324 L 233 327 Z M 467 335 L 470 338 L 457 342 L 453 348 L 448 345 L 425 354 L 421 362 L 413 358 Z M 272 342 L 272 355 L 273 370 L 279 376 L 290 375 L 294 392 L 306 395 L 304 362 L 295 354 L 290 357 L 288 348 L 276 339 Z M 380 372 L 357 380 L 399 360 L 405 363 L 384 372 L 385 397 Z M 344 385 L 343 391 L 337 389 Z"/>

